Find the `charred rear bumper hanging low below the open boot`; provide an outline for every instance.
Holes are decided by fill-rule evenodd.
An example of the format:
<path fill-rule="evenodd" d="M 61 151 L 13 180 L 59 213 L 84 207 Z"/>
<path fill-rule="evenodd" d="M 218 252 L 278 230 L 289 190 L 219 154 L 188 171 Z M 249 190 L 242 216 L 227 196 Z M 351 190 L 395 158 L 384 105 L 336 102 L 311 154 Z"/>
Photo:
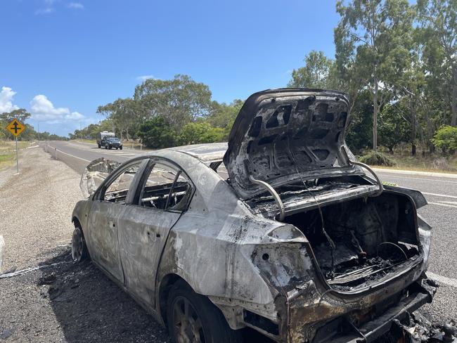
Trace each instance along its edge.
<path fill-rule="evenodd" d="M 392 330 L 392 326 L 403 321 L 408 313 L 416 311 L 423 304 L 432 302 L 433 296 L 437 290 L 434 283 L 429 279 L 423 279 L 411 284 L 408 288 L 408 296 L 403 297 L 394 305 L 382 308 L 373 306 L 371 313 L 367 316 L 373 316 L 371 320 L 356 325 L 354 317 L 341 316 L 326 325 L 323 325 L 316 331 L 316 336 L 312 343 L 335 342 L 335 343 L 371 343 Z M 379 307 L 379 308 L 376 308 Z"/>

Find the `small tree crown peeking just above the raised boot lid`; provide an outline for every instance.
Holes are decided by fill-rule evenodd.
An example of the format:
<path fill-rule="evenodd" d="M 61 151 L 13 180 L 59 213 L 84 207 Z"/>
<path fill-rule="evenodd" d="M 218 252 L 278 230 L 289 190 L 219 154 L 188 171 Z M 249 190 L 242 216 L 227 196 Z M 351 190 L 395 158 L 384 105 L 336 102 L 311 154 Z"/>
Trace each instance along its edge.
<path fill-rule="evenodd" d="M 304 67 L 292 70 L 288 87 L 335 89 L 335 61 L 323 51 L 311 51 L 304 56 Z"/>

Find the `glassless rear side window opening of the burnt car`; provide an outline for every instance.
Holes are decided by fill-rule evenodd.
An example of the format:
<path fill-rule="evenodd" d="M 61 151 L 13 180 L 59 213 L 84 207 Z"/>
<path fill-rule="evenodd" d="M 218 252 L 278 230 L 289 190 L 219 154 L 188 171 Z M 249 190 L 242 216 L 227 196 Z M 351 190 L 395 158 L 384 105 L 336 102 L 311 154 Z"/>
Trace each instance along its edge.
<path fill-rule="evenodd" d="M 181 170 L 156 163 L 141 190 L 140 204 L 154 209 L 183 211 L 191 196 L 191 182 Z"/>

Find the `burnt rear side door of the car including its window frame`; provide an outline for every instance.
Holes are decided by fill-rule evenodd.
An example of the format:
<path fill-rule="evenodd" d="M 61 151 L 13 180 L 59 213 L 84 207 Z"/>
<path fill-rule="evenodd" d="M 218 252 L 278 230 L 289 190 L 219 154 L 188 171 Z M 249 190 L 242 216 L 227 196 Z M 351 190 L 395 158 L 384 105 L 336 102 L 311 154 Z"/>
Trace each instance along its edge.
<path fill-rule="evenodd" d="M 188 180 L 191 189 L 189 190 L 189 195 L 184 209 L 154 209 L 141 205 L 141 193 L 143 188 L 146 186 L 146 181 L 148 180 L 151 171 L 153 171 L 157 164 L 171 167 L 176 171 L 176 176 L 172 183 L 172 187 L 169 190 L 169 195 L 172 194 L 176 185 L 176 180 L 180 175 L 184 175 Z M 176 164 L 172 160 L 164 157 L 150 157 L 148 166 L 143 169 L 142 177 L 139 179 L 138 183 L 136 183 L 136 190 L 134 194 L 132 194 L 134 198 L 131 199 L 131 203 L 124 212 L 122 217 L 123 223 L 120 223 L 118 226 L 120 259 L 122 266 L 124 266 L 124 286 L 129 292 L 133 293 L 135 297 L 139 298 L 141 302 L 151 306 L 152 308 L 155 308 L 157 270 L 158 266 L 160 266 L 163 251 L 167 245 L 169 233 L 172 231 L 174 225 L 176 225 L 179 221 L 182 214 L 187 211 L 189 205 L 191 204 L 195 189 L 195 184 L 191 180 L 190 176 L 188 176 L 186 171 L 184 171 L 179 164 Z M 137 222 L 135 227 L 129 226 L 129 228 L 127 228 L 127 216 L 132 216 L 133 213 L 135 213 L 136 218 L 143 218 L 143 222 Z M 167 214 L 174 214 L 175 216 L 168 216 Z M 161 216 L 167 216 L 168 218 L 160 221 Z M 155 219 L 159 219 L 156 221 L 158 224 L 154 224 Z M 161 226 L 163 223 L 168 224 L 169 227 L 165 225 Z M 134 232 L 127 232 L 127 230 L 134 230 Z M 132 240 L 134 242 L 132 242 Z M 137 246 L 136 248 L 132 247 L 132 245 L 139 244 L 139 242 L 143 242 L 143 244 L 148 246 Z M 129 245 L 131 246 L 129 247 Z M 154 250 L 154 247 L 157 247 L 158 251 Z M 143 256 L 137 257 L 138 260 L 136 260 L 135 263 L 125 260 L 129 256 L 133 256 L 135 253 L 143 254 Z M 152 261 L 148 260 L 150 264 L 140 265 L 141 261 L 144 260 L 142 257 L 145 255 L 146 257 L 152 259 Z M 134 257 L 131 258 L 133 259 Z M 152 270 L 150 270 L 150 268 L 152 268 Z M 150 276 L 150 278 L 146 279 L 146 276 Z M 143 280 L 143 278 L 145 278 L 145 280 Z"/>

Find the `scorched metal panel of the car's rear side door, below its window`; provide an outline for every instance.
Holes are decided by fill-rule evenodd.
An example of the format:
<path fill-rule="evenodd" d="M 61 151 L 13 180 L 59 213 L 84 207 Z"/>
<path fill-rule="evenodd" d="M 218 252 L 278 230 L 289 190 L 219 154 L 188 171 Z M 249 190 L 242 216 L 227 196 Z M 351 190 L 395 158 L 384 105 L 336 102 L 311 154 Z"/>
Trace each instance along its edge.
<path fill-rule="evenodd" d="M 119 221 L 118 237 L 125 286 L 152 306 L 157 264 L 168 233 L 180 215 L 129 205 Z"/>

